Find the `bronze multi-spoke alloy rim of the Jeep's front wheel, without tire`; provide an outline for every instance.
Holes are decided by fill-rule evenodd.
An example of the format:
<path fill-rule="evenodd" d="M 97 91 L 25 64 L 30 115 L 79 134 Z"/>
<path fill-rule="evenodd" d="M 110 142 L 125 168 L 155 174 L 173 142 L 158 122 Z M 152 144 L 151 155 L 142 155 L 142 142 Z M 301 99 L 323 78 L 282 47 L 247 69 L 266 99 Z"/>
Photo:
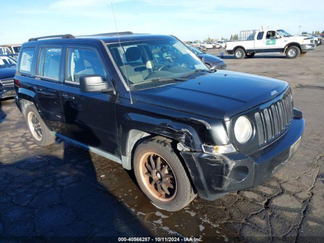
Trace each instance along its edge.
<path fill-rule="evenodd" d="M 168 161 L 157 153 L 140 158 L 140 176 L 149 193 L 160 201 L 171 201 L 177 194 L 177 180 Z"/>

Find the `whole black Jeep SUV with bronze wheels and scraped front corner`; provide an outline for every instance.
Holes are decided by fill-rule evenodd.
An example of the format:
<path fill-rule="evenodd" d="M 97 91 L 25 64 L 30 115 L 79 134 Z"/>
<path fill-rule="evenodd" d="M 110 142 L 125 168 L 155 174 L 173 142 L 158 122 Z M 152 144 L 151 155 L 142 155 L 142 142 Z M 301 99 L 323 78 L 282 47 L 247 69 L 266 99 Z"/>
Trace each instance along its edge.
<path fill-rule="evenodd" d="M 174 36 L 32 38 L 18 63 L 15 100 L 37 144 L 58 137 L 134 170 L 168 211 L 263 183 L 304 131 L 288 83 L 212 71 Z"/>

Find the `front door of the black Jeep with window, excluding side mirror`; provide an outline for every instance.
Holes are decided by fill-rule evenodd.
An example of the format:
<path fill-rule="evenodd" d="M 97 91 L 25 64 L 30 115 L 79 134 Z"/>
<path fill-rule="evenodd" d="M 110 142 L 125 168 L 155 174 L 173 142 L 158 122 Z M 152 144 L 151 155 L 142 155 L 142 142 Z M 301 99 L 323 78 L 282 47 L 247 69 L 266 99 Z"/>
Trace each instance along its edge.
<path fill-rule="evenodd" d="M 82 93 L 79 88 L 80 76 L 87 74 L 101 75 L 106 82 L 110 82 L 99 53 L 95 46 L 70 45 L 66 48 L 65 79 L 60 92 L 65 117 L 62 134 L 117 155 L 116 96 Z"/>

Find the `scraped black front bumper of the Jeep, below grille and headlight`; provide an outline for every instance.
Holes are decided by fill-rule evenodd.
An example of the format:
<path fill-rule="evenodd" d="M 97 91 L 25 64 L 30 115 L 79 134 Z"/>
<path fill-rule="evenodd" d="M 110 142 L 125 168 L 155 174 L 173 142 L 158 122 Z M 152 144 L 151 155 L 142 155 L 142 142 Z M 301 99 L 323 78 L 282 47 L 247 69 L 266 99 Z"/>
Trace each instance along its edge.
<path fill-rule="evenodd" d="M 201 198 L 215 200 L 230 192 L 262 184 L 286 165 L 298 148 L 305 121 L 294 117 L 288 131 L 267 147 L 245 156 L 181 151 Z"/>

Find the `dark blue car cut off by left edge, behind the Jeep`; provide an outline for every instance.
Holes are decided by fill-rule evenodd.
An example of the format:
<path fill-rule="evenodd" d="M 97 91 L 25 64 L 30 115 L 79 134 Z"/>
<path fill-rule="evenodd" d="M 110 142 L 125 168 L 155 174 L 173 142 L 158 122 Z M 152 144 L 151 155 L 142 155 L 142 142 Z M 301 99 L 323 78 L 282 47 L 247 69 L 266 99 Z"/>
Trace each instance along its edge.
<path fill-rule="evenodd" d="M 16 61 L 9 55 L 0 55 L 0 99 L 16 95 L 15 74 Z"/>

